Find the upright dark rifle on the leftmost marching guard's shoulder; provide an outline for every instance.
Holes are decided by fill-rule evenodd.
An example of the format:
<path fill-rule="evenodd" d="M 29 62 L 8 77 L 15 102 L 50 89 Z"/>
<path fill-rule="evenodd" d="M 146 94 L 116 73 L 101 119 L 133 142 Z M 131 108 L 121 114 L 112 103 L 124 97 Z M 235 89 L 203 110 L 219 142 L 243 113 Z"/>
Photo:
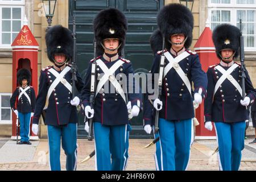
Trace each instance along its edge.
<path fill-rule="evenodd" d="M 76 18 L 75 15 L 73 16 L 73 56 L 72 56 L 72 98 L 75 98 L 75 90 L 76 90 L 76 72 L 77 72 L 77 65 L 76 65 Z"/>

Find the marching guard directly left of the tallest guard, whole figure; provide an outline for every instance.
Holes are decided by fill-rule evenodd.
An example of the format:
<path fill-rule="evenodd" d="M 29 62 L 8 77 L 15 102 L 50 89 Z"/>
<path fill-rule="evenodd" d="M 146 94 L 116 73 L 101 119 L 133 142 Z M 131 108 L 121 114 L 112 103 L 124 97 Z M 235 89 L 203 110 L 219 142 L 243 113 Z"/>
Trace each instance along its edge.
<path fill-rule="evenodd" d="M 89 62 L 81 104 L 85 116 L 93 118 L 96 169 L 123 170 L 127 160 L 125 142 L 129 119 L 126 93 L 119 83 L 121 81 L 119 78 L 128 81 L 129 75 L 133 73 L 131 62 L 120 57 L 121 50 L 125 46 L 127 20 L 121 11 L 113 8 L 105 9 L 96 15 L 93 29 L 98 57 Z M 91 76 L 94 74 L 97 76 L 96 85 L 93 80 L 91 81 Z M 92 84 L 96 88 L 93 108 L 89 104 Z M 127 86 L 127 90 L 129 90 L 128 86 L 135 87 L 134 82 L 132 85 L 123 82 L 122 85 Z M 127 94 L 131 101 L 131 113 L 137 116 L 141 108 L 141 94 Z M 89 131 L 88 123 L 85 124 L 85 130 Z"/>

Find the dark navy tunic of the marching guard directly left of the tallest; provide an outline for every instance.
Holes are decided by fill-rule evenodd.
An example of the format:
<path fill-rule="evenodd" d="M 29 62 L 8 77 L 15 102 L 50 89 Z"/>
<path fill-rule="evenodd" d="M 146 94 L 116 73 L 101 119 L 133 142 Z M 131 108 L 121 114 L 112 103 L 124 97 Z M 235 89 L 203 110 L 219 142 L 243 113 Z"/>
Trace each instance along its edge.
<path fill-rule="evenodd" d="M 133 67 L 129 60 L 122 59 L 122 57 L 114 56 L 111 57 L 109 60 L 104 59 L 104 56 L 97 57 L 97 59 L 101 59 L 106 67 L 110 69 L 117 61 L 121 60 L 123 61 L 123 64 L 118 67 L 118 69 L 113 73 L 113 76 L 116 77 L 119 73 L 125 74 L 127 77 L 127 83 L 129 80 L 129 73 L 134 73 Z M 88 71 L 85 76 L 85 86 L 82 90 L 82 96 L 81 96 L 81 104 L 82 107 L 86 107 L 90 105 L 89 103 L 89 97 L 90 97 L 90 80 L 91 80 L 91 72 L 92 72 L 92 62 L 91 60 L 88 65 Z M 102 69 L 97 64 L 97 76 L 103 75 L 104 73 Z M 97 85 L 100 80 L 97 78 Z M 130 85 L 131 88 L 135 88 L 134 82 L 133 85 Z M 108 86 L 108 92 L 106 91 L 105 85 Z M 121 94 L 117 93 L 115 89 L 112 89 L 114 92 L 110 92 L 110 81 L 108 80 L 104 86 L 101 88 L 101 92 L 99 92 L 95 97 L 95 104 L 94 104 L 94 122 L 101 122 L 102 125 L 125 125 L 129 124 L 128 120 L 128 113 L 127 113 L 127 106 L 126 102 L 121 97 Z M 127 84 L 127 92 L 129 92 Z M 137 85 L 138 86 L 138 85 Z M 97 86 L 95 86 L 96 88 Z M 104 90 L 105 89 L 105 90 Z M 133 89 L 134 90 L 134 89 Z M 142 95 L 141 93 L 129 93 L 129 100 L 131 101 L 131 107 L 134 105 L 137 105 L 141 108 L 142 106 Z"/>

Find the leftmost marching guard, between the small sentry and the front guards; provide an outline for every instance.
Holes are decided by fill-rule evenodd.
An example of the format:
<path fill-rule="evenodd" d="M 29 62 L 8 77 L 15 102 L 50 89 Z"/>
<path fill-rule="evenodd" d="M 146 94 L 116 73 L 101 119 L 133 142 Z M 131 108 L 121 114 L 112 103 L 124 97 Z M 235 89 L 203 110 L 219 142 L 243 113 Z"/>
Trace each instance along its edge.
<path fill-rule="evenodd" d="M 32 131 L 38 133 L 38 122 L 46 109 L 44 123 L 48 129 L 49 162 L 51 170 L 60 168 L 60 142 L 67 155 L 66 169 L 76 170 L 77 161 L 77 110 L 84 82 L 77 73 L 76 85 L 72 85 L 71 65 L 73 53 L 72 32 L 61 25 L 53 26 L 46 33 L 48 59 L 52 66 L 43 68 L 39 78 L 39 93 L 36 98 Z M 72 86 L 79 94 L 72 99 Z M 47 105 L 46 105 L 47 103 Z"/>

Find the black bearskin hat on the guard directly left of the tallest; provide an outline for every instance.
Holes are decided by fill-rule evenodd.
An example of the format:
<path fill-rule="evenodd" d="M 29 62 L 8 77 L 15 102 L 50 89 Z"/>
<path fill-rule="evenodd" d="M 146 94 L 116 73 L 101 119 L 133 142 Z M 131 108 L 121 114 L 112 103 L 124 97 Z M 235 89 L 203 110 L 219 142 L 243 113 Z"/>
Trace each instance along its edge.
<path fill-rule="evenodd" d="M 104 53 L 101 46 L 104 39 L 117 38 L 121 46 L 118 48 L 120 54 L 125 46 L 125 35 L 127 31 L 127 19 L 125 15 L 114 8 L 101 10 L 93 20 L 93 31 L 96 39 L 96 53 L 100 56 Z"/>

